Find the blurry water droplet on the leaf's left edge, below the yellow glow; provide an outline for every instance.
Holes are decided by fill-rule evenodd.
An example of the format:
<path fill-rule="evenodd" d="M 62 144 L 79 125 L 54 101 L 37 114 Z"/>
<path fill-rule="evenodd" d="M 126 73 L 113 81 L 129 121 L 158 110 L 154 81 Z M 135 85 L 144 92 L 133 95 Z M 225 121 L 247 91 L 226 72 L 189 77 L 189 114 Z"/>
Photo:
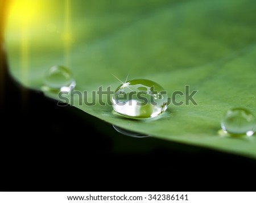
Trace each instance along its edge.
<path fill-rule="evenodd" d="M 44 83 L 47 86 L 44 89 L 59 91 L 70 91 L 70 88 L 76 85 L 71 70 L 65 66 L 53 66 L 48 69 Z"/>

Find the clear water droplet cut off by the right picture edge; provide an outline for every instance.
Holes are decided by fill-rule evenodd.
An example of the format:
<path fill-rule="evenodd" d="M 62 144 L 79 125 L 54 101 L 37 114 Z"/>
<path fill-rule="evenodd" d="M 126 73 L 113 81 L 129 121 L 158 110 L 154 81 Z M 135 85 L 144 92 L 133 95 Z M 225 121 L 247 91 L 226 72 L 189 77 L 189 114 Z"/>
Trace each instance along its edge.
<path fill-rule="evenodd" d="M 255 117 L 247 109 L 233 108 L 225 113 L 221 128 L 229 134 L 251 136 L 255 130 Z"/>

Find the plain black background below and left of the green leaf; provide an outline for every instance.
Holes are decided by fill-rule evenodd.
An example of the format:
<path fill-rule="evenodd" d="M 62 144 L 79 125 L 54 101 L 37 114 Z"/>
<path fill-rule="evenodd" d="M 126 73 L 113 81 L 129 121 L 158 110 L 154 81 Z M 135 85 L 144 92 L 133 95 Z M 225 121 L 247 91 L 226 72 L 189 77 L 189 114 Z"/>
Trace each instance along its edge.
<path fill-rule="evenodd" d="M 255 191 L 253 159 L 125 136 L 21 87 L 3 42 L 1 35 L 0 191 Z"/>

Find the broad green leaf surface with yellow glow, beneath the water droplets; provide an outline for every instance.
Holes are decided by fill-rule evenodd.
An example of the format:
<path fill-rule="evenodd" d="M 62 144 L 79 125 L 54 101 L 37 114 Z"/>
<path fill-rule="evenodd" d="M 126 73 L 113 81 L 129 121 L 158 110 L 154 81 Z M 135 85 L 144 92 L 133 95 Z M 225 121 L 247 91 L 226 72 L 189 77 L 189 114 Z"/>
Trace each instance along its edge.
<path fill-rule="evenodd" d="M 115 90 L 112 74 L 150 79 L 169 96 L 189 85 L 199 90 L 198 105 L 170 104 L 153 119 L 123 118 L 111 105 L 79 105 L 77 95 L 74 105 L 125 129 L 256 158 L 255 137 L 218 135 L 229 108 L 256 113 L 256 1 L 72 0 L 71 19 L 64 2 L 30 1 L 11 10 L 6 45 L 17 81 L 40 90 L 49 67 L 68 65 L 75 90 L 89 93 L 100 86 Z M 22 23 L 29 9 L 36 12 Z"/>

